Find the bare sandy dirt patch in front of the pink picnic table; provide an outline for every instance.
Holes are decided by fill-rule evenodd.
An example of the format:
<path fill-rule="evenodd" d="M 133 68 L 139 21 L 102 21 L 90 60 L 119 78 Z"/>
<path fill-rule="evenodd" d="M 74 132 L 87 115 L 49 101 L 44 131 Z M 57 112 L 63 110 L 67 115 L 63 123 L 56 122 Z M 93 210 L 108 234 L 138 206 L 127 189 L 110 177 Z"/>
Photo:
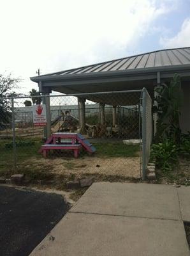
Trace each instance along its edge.
<path fill-rule="evenodd" d="M 80 177 L 84 173 L 89 175 L 98 173 L 103 175 L 119 175 L 123 177 L 140 178 L 139 157 L 112 157 L 101 159 L 99 157 L 83 157 L 78 159 L 36 159 L 25 161 L 24 165 L 47 166 L 50 172 L 57 175 L 71 175 Z M 44 167 L 43 167 L 44 168 Z"/>

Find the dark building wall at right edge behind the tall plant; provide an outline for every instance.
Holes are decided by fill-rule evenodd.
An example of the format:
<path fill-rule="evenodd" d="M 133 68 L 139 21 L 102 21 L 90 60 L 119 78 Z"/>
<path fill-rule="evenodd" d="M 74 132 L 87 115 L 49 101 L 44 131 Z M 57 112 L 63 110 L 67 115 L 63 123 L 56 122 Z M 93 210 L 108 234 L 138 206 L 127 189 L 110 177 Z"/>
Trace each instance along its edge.
<path fill-rule="evenodd" d="M 181 109 L 180 128 L 183 133 L 190 131 L 190 82 L 182 83 L 184 93 L 184 105 Z"/>

